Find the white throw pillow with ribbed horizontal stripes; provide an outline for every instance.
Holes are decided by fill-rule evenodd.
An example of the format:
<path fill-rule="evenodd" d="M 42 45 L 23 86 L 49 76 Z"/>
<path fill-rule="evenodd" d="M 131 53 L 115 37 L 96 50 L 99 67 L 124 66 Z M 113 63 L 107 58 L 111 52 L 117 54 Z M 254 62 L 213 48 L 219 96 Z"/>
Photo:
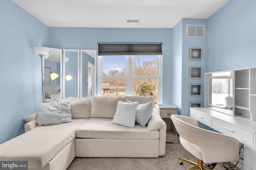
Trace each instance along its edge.
<path fill-rule="evenodd" d="M 136 110 L 138 103 L 118 101 L 113 123 L 127 127 L 135 127 Z"/>

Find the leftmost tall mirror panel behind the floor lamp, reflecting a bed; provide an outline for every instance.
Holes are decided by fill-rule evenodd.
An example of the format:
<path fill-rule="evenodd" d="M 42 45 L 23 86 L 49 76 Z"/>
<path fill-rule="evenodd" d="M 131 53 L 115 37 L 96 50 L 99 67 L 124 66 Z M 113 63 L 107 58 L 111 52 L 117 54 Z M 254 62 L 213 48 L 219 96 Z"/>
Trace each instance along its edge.
<path fill-rule="evenodd" d="M 54 99 L 62 99 L 62 49 L 45 48 L 48 48 L 50 53 L 50 56 L 44 59 L 45 102 L 51 102 Z M 50 72 L 59 76 L 51 80 L 50 76 L 47 76 Z"/>

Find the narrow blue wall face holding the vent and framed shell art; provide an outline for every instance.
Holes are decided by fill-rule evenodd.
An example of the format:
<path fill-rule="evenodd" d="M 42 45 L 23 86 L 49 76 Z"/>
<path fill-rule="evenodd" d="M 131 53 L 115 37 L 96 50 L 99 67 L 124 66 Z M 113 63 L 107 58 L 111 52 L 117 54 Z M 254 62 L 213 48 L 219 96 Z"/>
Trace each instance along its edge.
<path fill-rule="evenodd" d="M 186 37 L 186 25 L 196 24 L 205 25 L 204 38 L 187 38 Z M 182 107 L 181 114 L 189 116 L 189 102 L 201 102 L 204 107 L 204 73 L 207 70 L 206 64 L 208 62 L 207 56 L 207 36 L 208 24 L 207 20 L 200 19 L 182 19 Z M 190 60 L 189 49 L 190 48 L 202 48 L 201 60 Z M 201 78 L 189 78 L 189 67 L 198 66 L 202 67 Z M 200 96 L 189 96 L 189 84 L 201 84 Z"/>

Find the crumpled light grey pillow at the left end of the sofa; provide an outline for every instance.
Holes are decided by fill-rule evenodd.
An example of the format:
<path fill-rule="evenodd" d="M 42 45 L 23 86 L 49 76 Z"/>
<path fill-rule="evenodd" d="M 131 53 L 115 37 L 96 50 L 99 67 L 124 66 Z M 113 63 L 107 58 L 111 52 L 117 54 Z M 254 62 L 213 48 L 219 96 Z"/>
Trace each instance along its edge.
<path fill-rule="evenodd" d="M 53 125 L 71 122 L 71 104 L 69 101 L 42 103 L 36 122 L 40 125 Z"/>

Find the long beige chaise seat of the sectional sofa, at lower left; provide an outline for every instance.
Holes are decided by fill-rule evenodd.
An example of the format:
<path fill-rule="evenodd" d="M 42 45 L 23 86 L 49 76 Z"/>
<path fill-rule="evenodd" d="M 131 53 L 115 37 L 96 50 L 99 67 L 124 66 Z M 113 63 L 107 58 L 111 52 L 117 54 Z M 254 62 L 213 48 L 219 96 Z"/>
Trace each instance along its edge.
<path fill-rule="evenodd" d="M 70 123 L 38 126 L 2 143 L 0 160 L 29 161 L 34 166 L 44 167 L 76 137 L 76 129 L 86 120 L 73 119 Z"/>

